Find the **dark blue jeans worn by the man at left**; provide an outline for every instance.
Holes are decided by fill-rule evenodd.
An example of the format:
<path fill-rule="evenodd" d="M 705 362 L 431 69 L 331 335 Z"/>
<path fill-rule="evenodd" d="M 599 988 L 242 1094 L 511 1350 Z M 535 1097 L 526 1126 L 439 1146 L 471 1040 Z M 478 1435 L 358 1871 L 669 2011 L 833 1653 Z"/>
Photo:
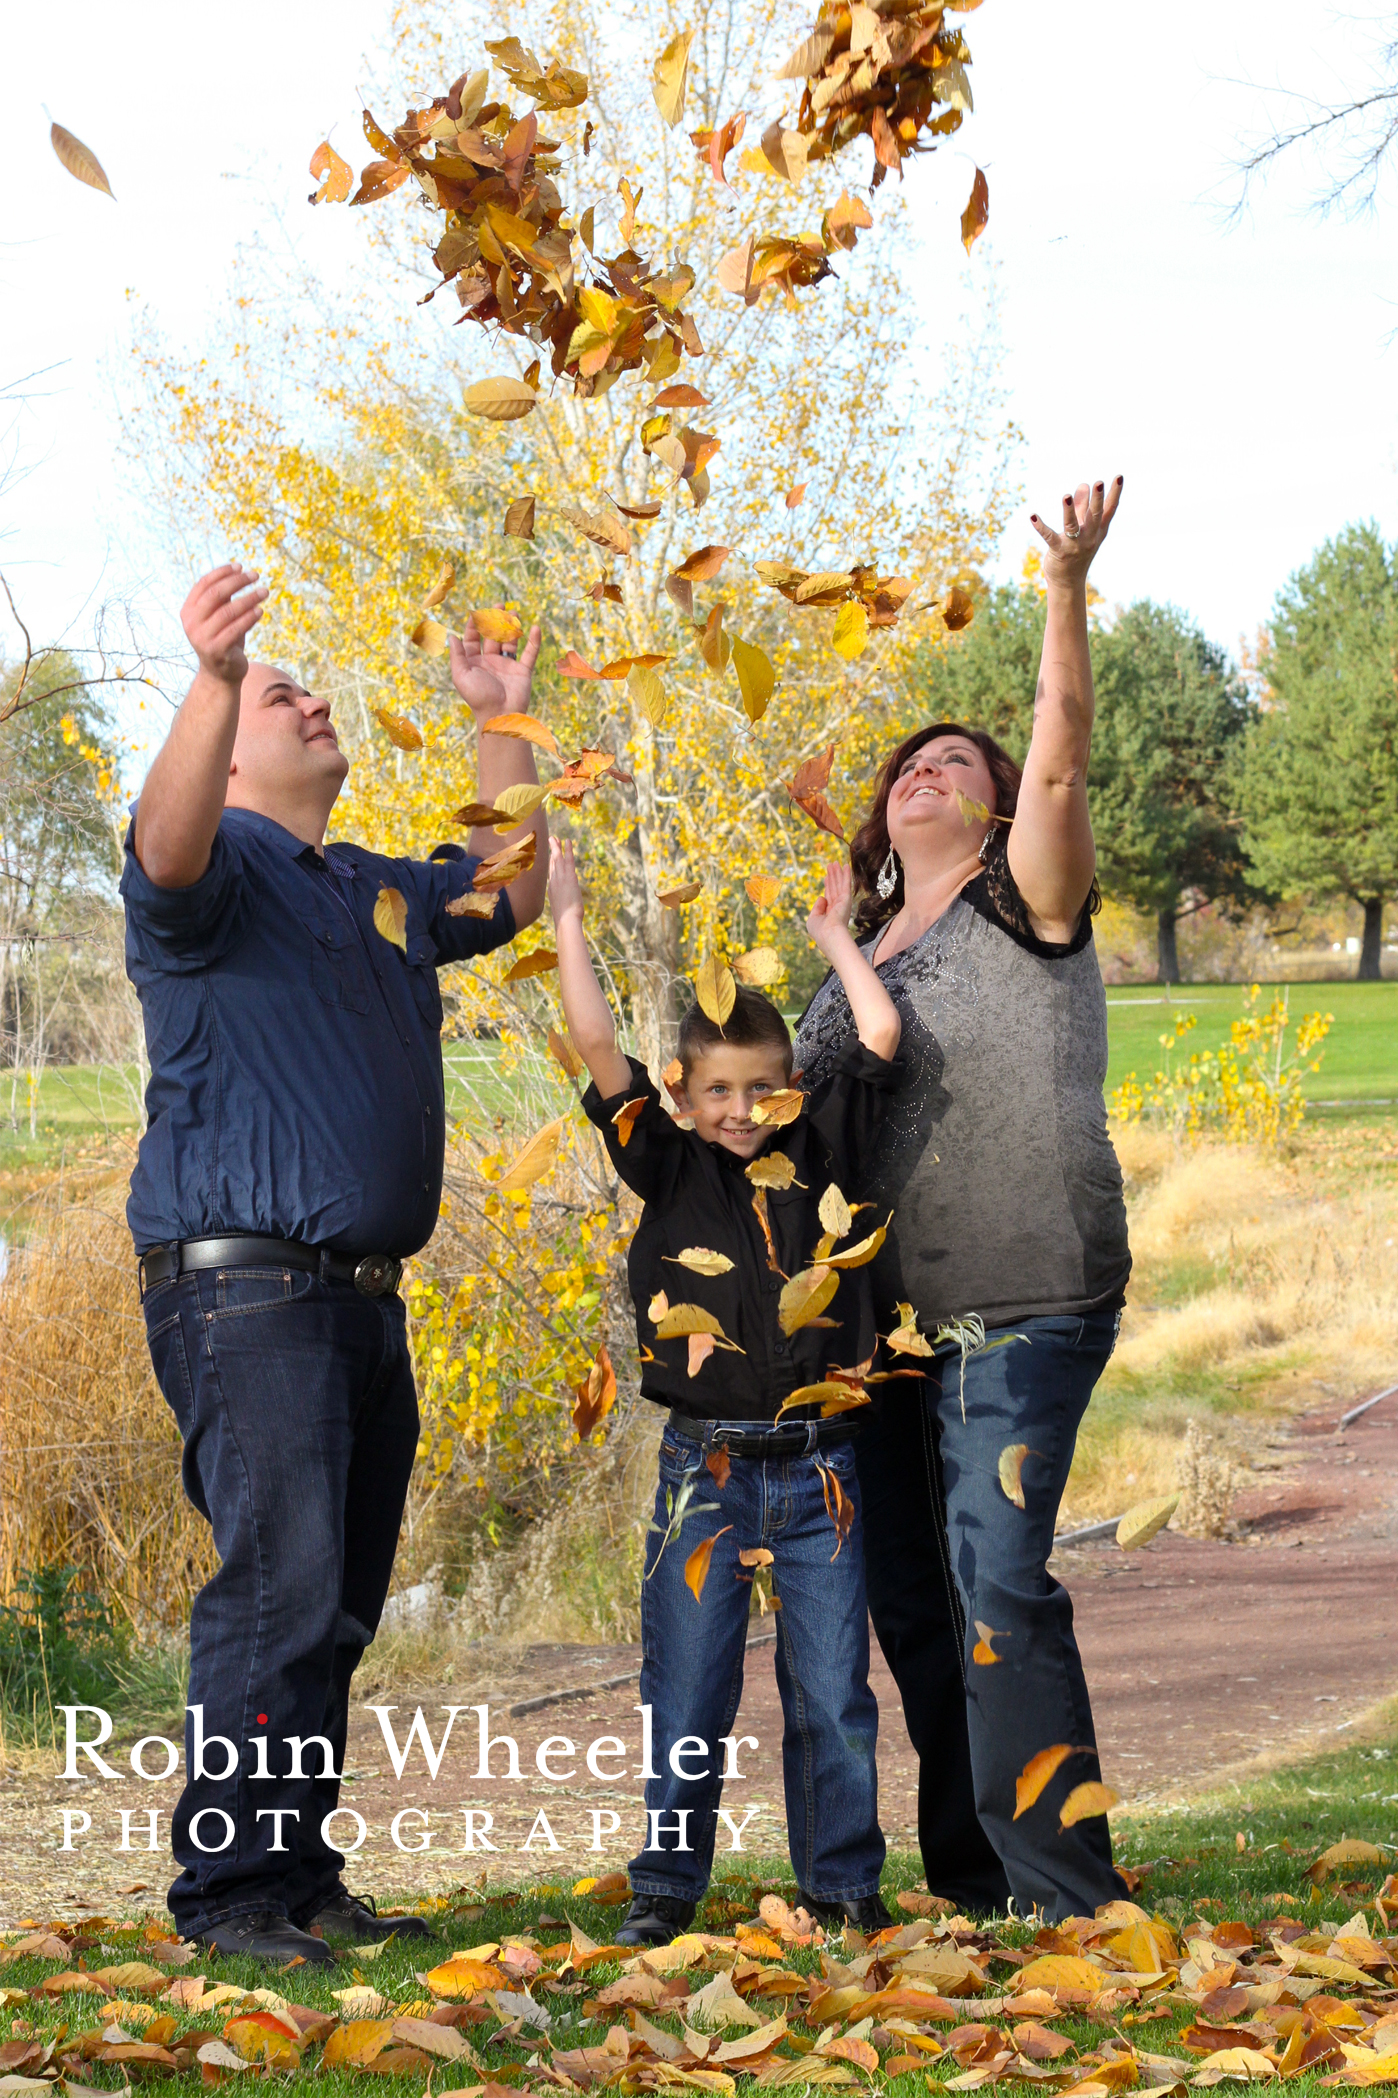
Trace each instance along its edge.
<path fill-rule="evenodd" d="M 321 1821 L 340 1796 L 348 1685 L 388 1594 L 418 1446 L 403 1301 L 223 1267 L 155 1284 L 145 1322 L 185 1439 L 185 1492 L 220 1559 L 189 1622 L 189 1704 L 204 1708 L 206 1769 L 229 1775 L 195 1773 L 191 1714 L 170 1911 L 185 1934 L 256 1909 L 306 1922 L 344 1867 Z M 292 1735 L 306 1741 L 302 1777 L 288 1775 Z M 269 1777 L 256 1775 L 262 1737 Z"/>

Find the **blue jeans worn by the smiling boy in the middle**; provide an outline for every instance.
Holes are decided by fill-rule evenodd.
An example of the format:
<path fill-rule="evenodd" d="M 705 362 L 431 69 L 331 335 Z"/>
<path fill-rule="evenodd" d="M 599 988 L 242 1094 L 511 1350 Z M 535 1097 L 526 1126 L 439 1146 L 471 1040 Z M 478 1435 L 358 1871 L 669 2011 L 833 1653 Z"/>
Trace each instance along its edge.
<path fill-rule="evenodd" d="M 724 1735 L 737 1718 L 749 1626 L 751 1569 L 739 1565 L 739 1553 L 766 1546 L 781 1599 L 777 1687 L 785 1716 L 781 1760 L 791 1867 L 802 1892 L 819 1901 L 859 1901 L 877 1892 L 884 1836 L 854 1441 L 823 1443 L 798 1456 L 735 1456 L 720 1492 L 703 1462 L 716 1427 L 722 1422 L 703 1425 L 703 1443 L 668 1427 L 659 1452 L 657 1529 L 647 1540 L 640 1590 L 640 1699 L 651 1706 L 651 1769 L 659 1775 L 647 1781 L 647 1840 L 630 1865 L 632 1888 L 697 1903 L 709 1884 L 730 1756 Z M 854 1504 L 854 1527 L 838 1555 L 819 1467 L 833 1473 Z M 665 1496 L 678 1500 L 686 1481 L 693 1485 L 689 1508 L 699 1513 L 686 1513 L 680 1532 L 663 1544 Z M 716 1544 L 695 1603 L 684 1563 L 705 1538 Z M 686 1746 L 684 1735 L 697 1741 Z M 674 1762 L 686 1775 L 674 1769 L 676 1743 Z M 743 1769 L 741 1754 L 735 1767 Z M 678 1821 L 678 1815 L 689 1819 Z M 741 1825 L 743 1817 L 735 1821 Z M 745 1848 L 754 1848 L 751 1838 Z"/>

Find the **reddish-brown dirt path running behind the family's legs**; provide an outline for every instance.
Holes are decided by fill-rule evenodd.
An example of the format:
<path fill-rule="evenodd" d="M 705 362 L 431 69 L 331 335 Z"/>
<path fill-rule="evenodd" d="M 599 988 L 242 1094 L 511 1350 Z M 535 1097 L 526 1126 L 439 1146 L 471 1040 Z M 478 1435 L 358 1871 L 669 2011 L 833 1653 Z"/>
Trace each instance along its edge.
<path fill-rule="evenodd" d="M 1343 1735 L 1375 1699 L 1398 1691 L 1398 1630 L 1390 1599 L 1398 1586 L 1398 1397 L 1385 1399 L 1346 1433 L 1335 1416 L 1304 1416 L 1257 1452 L 1262 1481 L 1238 1502 L 1238 1542 L 1161 1536 L 1142 1553 L 1113 1544 L 1062 1553 L 1056 1571 L 1075 1597 L 1077 1630 L 1087 1664 L 1104 1775 L 1129 1804 L 1175 1800 L 1201 1783 L 1285 1748 L 1304 1754 Z M 760 1628 L 758 1628 L 760 1632 Z M 747 1853 L 785 1850 L 781 1808 L 781 1706 L 775 1649 L 756 1645 L 737 1733 L 756 1735 L 743 1750 L 741 1779 L 724 1804 L 741 1825 Z M 567 1888 L 584 1874 L 626 1863 L 636 1846 L 640 1815 L 640 1718 L 634 1683 L 510 1716 L 539 1693 L 605 1683 L 638 1668 L 634 1647 L 531 1647 L 493 1664 L 493 1672 L 449 1691 L 399 1693 L 390 1714 L 403 1743 L 422 1704 L 432 1743 L 441 1743 L 445 1706 L 466 1710 L 453 1720 L 439 1775 L 426 1771 L 420 1741 L 403 1777 L 369 1710 L 355 1714 L 344 1800 L 367 1823 L 353 1861 L 351 1884 L 384 1892 L 445 1890 L 462 1882 L 556 1878 Z M 890 1844 L 915 1842 L 915 1764 L 903 1733 L 898 1695 L 875 1653 L 873 1687 L 884 1714 L 880 1796 Z M 476 1775 L 479 1716 L 489 1706 L 491 1779 Z M 598 1752 L 598 1775 L 586 1764 L 588 1743 L 611 1735 L 621 1754 Z M 546 1739 L 558 1781 L 535 1764 Z M 153 1767 L 160 1764 L 160 1752 Z M 88 1777 L 8 1777 L 0 1783 L 0 1922 L 25 1915 L 160 1903 L 166 1884 L 164 1844 L 174 1783 Z M 1398 1802 L 1396 1802 L 1398 1804 Z M 92 1827 L 76 1832 L 73 1850 L 59 1850 L 63 1808 L 88 1813 Z M 122 1850 L 122 1808 L 139 1808 L 132 1848 Z M 143 1844 L 157 1808 L 160 1850 Z M 474 1834 L 497 1848 L 466 1850 L 466 1808 Z M 535 1817 L 548 1817 L 558 1848 L 550 1848 Z M 600 1815 L 600 1848 L 594 1842 Z M 399 1815 L 399 1844 L 390 1825 Z M 424 1819 L 426 1817 L 426 1819 Z M 617 1827 L 613 1829 L 613 1817 Z M 1396 1813 L 1398 1827 L 1398 1813 Z M 348 1823 L 340 1829 L 346 1840 Z M 411 1855 L 430 1834 L 430 1850 Z M 529 1842 L 533 1832 L 533 1840 Z M 726 1838 L 724 1838 L 726 1842 Z M 529 1844 L 529 1848 L 525 1848 Z M 718 1871 L 724 1850 L 720 1848 Z M 139 1890 L 136 1890 L 139 1888 Z"/>

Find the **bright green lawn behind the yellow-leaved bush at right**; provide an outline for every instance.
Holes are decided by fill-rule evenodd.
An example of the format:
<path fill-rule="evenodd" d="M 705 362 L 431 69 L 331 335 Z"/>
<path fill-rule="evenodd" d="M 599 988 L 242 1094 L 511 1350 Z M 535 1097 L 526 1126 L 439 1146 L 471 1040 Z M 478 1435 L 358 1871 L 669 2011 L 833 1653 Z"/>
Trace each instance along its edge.
<path fill-rule="evenodd" d="M 1270 1003 L 1274 988 L 1285 986 L 1262 986 L 1259 1007 Z M 1175 1013 L 1196 1018 L 1182 1045 L 1184 1055 L 1217 1049 L 1241 1018 L 1243 999 L 1241 984 L 1171 984 L 1169 992 L 1148 984 L 1113 986 L 1106 992 L 1108 1089 L 1131 1070 L 1144 1078 L 1161 1068 L 1161 1034 L 1173 1030 Z M 1335 1024 L 1322 1045 L 1320 1070 L 1306 1078 L 1306 1097 L 1352 1106 L 1377 1099 L 1398 1104 L 1398 982 L 1291 984 L 1293 1020 L 1314 1011 L 1333 1013 Z"/>

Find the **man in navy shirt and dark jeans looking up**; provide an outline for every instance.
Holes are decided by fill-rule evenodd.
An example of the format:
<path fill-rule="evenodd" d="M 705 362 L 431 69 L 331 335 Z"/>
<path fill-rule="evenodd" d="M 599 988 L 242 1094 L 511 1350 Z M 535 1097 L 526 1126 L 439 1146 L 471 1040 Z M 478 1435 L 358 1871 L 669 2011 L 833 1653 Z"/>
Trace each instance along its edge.
<path fill-rule="evenodd" d="M 126 967 L 145 1011 L 149 1127 L 130 1183 L 155 1376 L 185 1441 L 185 1492 L 218 1571 L 191 1615 L 185 1792 L 170 1911 L 256 1960 L 330 1960 L 384 1926 L 342 1884 L 348 1685 L 388 1592 L 418 1401 L 397 1294 L 432 1234 L 445 1099 L 443 963 L 489 952 L 544 900 L 535 860 L 491 917 L 456 915 L 468 856 L 325 848 L 344 785 L 330 705 L 243 640 L 267 590 L 239 566 L 191 590 L 199 669 L 126 839 Z M 525 709 L 539 629 L 451 642 L 476 720 Z M 533 783 L 533 753 L 481 736 L 479 799 Z M 376 929 L 382 890 L 403 940 Z"/>

